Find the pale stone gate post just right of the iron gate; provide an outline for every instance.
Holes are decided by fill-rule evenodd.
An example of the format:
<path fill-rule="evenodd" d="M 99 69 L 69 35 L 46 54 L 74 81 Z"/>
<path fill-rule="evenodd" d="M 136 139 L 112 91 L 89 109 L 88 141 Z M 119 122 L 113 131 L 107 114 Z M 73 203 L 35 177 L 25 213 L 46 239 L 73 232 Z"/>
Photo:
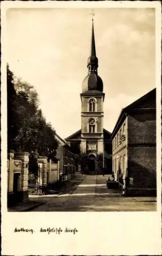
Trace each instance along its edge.
<path fill-rule="evenodd" d="M 42 178 L 42 187 L 45 187 L 47 186 L 47 157 L 38 157 L 38 163 L 42 163 L 42 167 L 40 169 L 40 176 Z"/>

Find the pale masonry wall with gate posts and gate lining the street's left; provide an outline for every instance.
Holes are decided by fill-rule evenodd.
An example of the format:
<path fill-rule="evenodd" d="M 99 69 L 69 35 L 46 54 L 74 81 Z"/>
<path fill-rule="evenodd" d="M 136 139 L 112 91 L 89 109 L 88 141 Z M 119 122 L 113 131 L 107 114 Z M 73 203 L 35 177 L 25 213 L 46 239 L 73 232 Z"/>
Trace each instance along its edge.
<path fill-rule="evenodd" d="M 42 195 L 47 186 L 62 182 L 60 176 L 63 175 L 63 181 L 72 178 L 75 172 L 73 164 L 65 165 L 65 173 L 60 171 L 60 162 L 47 162 L 47 157 L 39 156 L 37 167 L 29 168 L 29 153 L 11 151 L 7 159 L 7 187 L 8 187 L 8 205 L 15 202 L 27 201 L 29 195 Z M 30 169 L 30 172 L 29 172 Z"/>

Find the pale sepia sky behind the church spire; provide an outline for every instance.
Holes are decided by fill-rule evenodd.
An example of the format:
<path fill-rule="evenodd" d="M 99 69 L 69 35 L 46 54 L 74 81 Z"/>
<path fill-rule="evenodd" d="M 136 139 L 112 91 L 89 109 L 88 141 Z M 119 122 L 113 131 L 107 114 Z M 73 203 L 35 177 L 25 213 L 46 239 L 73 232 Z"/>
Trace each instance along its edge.
<path fill-rule="evenodd" d="M 7 10 L 7 61 L 32 84 L 40 108 L 62 138 L 81 127 L 82 81 L 88 73 L 92 9 Z M 112 132 L 121 109 L 155 88 L 155 9 L 94 9 L 104 121 Z"/>

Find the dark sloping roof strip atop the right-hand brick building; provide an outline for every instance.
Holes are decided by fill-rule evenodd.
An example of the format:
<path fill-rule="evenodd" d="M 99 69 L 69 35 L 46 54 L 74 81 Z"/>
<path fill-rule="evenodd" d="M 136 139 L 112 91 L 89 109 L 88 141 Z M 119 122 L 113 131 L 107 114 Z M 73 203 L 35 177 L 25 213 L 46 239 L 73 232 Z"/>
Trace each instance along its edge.
<path fill-rule="evenodd" d="M 117 128 L 120 125 L 120 123 L 125 119 L 126 114 L 133 110 L 136 109 L 136 107 L 143 101 L 145 101 L 147 98 L 154 97 L 156 93 L 156 89 L 154 88 L 153 90 L 151 90 L 150 92 L 148 92 L 147 94 L 143 95 L 142 97 L 140 97 L 139 99 L 137 99 L 136 101 L 132 102 L 131 104 L 127 105 L 125 108 L 123 108 L 119 114 L 118 120 L 116 122 L 116 125 L 114 127 L 114 130 L 112 132 L 112 136 L 111 138 L 113 138 L 116 134 Z M 142 108 L 140 108 L 142 110 Z"/>

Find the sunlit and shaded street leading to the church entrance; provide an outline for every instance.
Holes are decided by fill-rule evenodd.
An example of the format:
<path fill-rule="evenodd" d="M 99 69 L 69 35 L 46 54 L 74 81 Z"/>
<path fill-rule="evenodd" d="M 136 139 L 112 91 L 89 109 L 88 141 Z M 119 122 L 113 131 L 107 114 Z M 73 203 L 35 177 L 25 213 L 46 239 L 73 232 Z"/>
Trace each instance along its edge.
<path fill-rule="evenodd" d="M 80 175 L 59 194 L 32 196 L 44 204 L 32 211 L 154 211 L 155 197 L 123 197 L 119 190 L 107 189 L 108 175 Z"/>

